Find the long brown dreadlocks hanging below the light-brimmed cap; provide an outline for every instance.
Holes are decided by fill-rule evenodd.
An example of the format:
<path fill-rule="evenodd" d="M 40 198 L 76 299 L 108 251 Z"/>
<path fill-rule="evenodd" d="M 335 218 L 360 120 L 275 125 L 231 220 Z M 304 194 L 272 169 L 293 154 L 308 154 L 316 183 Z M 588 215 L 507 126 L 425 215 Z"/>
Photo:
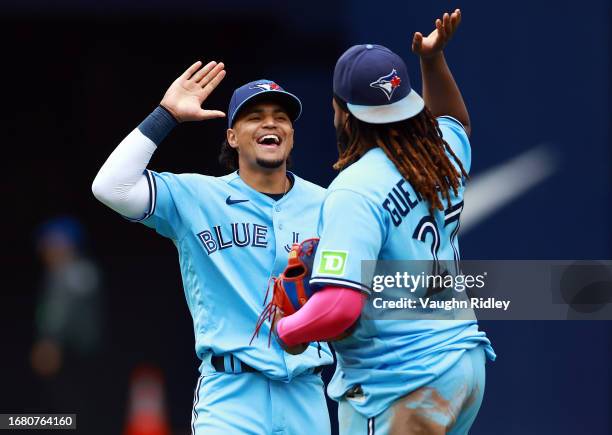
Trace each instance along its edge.
<path fill-rule="evenodd" d="M 338 161 L 334 169 L 342 170 L 356 162 L 368 150 L 380 147 L 400 174 L 429 204 L 429 213 L 451 206 L 452 191 L 457 195 L 462 177 L 469 178 L 461 161 L 442 139 L 438 121 L 429 109 L 418 115 L 389 124 L 369 124 L 355 118 L 346 103 L 334 96 L 336 103 L 349 115 L 336 129 Z M 452 156 L 460 171 L 448 156 Z M 442 198 L 440 198 L 440 196 Z"/>

